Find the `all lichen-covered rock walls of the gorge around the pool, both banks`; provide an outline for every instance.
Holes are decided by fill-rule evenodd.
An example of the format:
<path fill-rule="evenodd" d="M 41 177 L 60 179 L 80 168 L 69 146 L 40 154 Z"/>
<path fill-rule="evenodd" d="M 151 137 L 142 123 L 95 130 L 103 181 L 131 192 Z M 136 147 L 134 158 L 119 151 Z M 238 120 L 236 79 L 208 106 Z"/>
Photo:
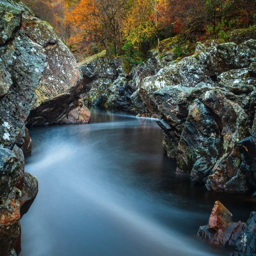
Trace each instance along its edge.
<path fill-rule="evenodd" d="M 255 30 L 234 31 L 222 44 L 197 43 L 182 59 L 170 49 L 151 50 L 130 70 L 121 57 L 77 64 L 52 27 L 21 3 L 0 1 L 0 27 L 1 255 L 20 252 L 19 219 L 38 192 L 37 178 L 25 172 L 32 145 L 27 127 L 87 123 L 86 105 L 159 118 L 177 173 L 212 191 L 256 191 Z M 255 222 L 252 212 L 247 223 L 227 217 L 199 233 L 217 241 L 210 238 L 217 232 L 220 245 L 236 246 L 236 256 L 255 255 Z"/>

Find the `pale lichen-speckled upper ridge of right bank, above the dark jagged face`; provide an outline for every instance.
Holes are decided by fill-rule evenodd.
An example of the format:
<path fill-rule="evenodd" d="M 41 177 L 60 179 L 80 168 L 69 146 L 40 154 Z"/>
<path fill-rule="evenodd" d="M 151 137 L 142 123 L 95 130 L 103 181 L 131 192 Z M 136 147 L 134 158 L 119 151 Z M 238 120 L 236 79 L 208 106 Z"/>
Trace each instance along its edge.
<path fill-rule="evenodd" d="M 141 99 L 142 102 L 140 102 L 140 105 L 144 105 L 148 109 L 148 112 L 156 113 L 156 102 L 153 97 L 154 91 L 166 86 L 178 84 L 183 87 L 196 87 L 202 83 L 208 87 L 218 86 L 217 76 L 230 69 L 249 67 L 253 60 L 255 60 L 255 56 L 255 40 L 249 40 L 240 45 L 224 43 L 206 48 L 180 61 L 170 62 L 169 65 L 160 69 L 156 75 L 144 78 L 141 80 L 134 94 L 138 94 L 136 98 Z M 254 82 L 245 81 L 245 76 L 248 72 L 244 71 L 244 73 L 243 78 L 241 78 L 244 84 L 237 84 L 238 88 L 234 86 L 233 91 L 253 90 Z M 236 76 L 238 77 L 241 74 L 236 73 Z M 234 82 L 236 82 L 236 76 L 233 74 Z M 225 83 L 224 74 L 220 79 Z M 223 83 L 222 86 L 224 86 Z M 226 87 L 228 87 L 227 84 Z M 133 105 L 136 106 L 136 102 Z"/>

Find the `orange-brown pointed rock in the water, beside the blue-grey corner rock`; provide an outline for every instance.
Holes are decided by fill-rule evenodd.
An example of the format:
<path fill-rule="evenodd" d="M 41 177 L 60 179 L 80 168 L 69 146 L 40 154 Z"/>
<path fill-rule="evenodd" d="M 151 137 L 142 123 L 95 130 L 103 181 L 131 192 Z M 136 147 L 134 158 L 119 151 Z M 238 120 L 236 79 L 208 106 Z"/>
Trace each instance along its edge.
<path fill-rule="evenodd" d="M 244 225 L 241 221 L 233 222 L 231 212 L 221 202 L 216 201 L 208 224 L 200 226 L 197 234 L 212 244 L 234 246 Z"/>

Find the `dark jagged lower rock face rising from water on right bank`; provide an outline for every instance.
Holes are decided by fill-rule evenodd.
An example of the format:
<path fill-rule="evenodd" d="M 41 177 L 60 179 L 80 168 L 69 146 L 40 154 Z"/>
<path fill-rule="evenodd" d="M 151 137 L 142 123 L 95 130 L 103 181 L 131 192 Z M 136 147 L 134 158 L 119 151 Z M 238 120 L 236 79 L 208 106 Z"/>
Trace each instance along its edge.
<path fill-rule="evenodd" d="M 245 171 L 239 141 L 250 135 L 254 94 L 237 95 L 227 89 L 229 86 L 201 83 L 156 91 L 158 111 L 164 117 L 158 123 L 165 135 L 167 154 L 177 157 L 177 172 L 189 174 L 210 190 L 244 193 L 254 188 L 254 169 L 248 161 L 251 169 Z"/>

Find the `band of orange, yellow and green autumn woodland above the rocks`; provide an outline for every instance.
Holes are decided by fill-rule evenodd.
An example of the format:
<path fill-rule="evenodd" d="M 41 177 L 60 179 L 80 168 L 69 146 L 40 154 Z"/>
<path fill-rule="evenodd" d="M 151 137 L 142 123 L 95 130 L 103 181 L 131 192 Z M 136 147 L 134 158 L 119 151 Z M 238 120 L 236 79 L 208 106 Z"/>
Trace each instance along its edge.
<path fill-rule="evenodd" d="M 160 41 L 227 38 L 256 25 L 255 0 L 23 0 L 79 59 L 103 49 L 109 58 L 145 55 Z"/>

